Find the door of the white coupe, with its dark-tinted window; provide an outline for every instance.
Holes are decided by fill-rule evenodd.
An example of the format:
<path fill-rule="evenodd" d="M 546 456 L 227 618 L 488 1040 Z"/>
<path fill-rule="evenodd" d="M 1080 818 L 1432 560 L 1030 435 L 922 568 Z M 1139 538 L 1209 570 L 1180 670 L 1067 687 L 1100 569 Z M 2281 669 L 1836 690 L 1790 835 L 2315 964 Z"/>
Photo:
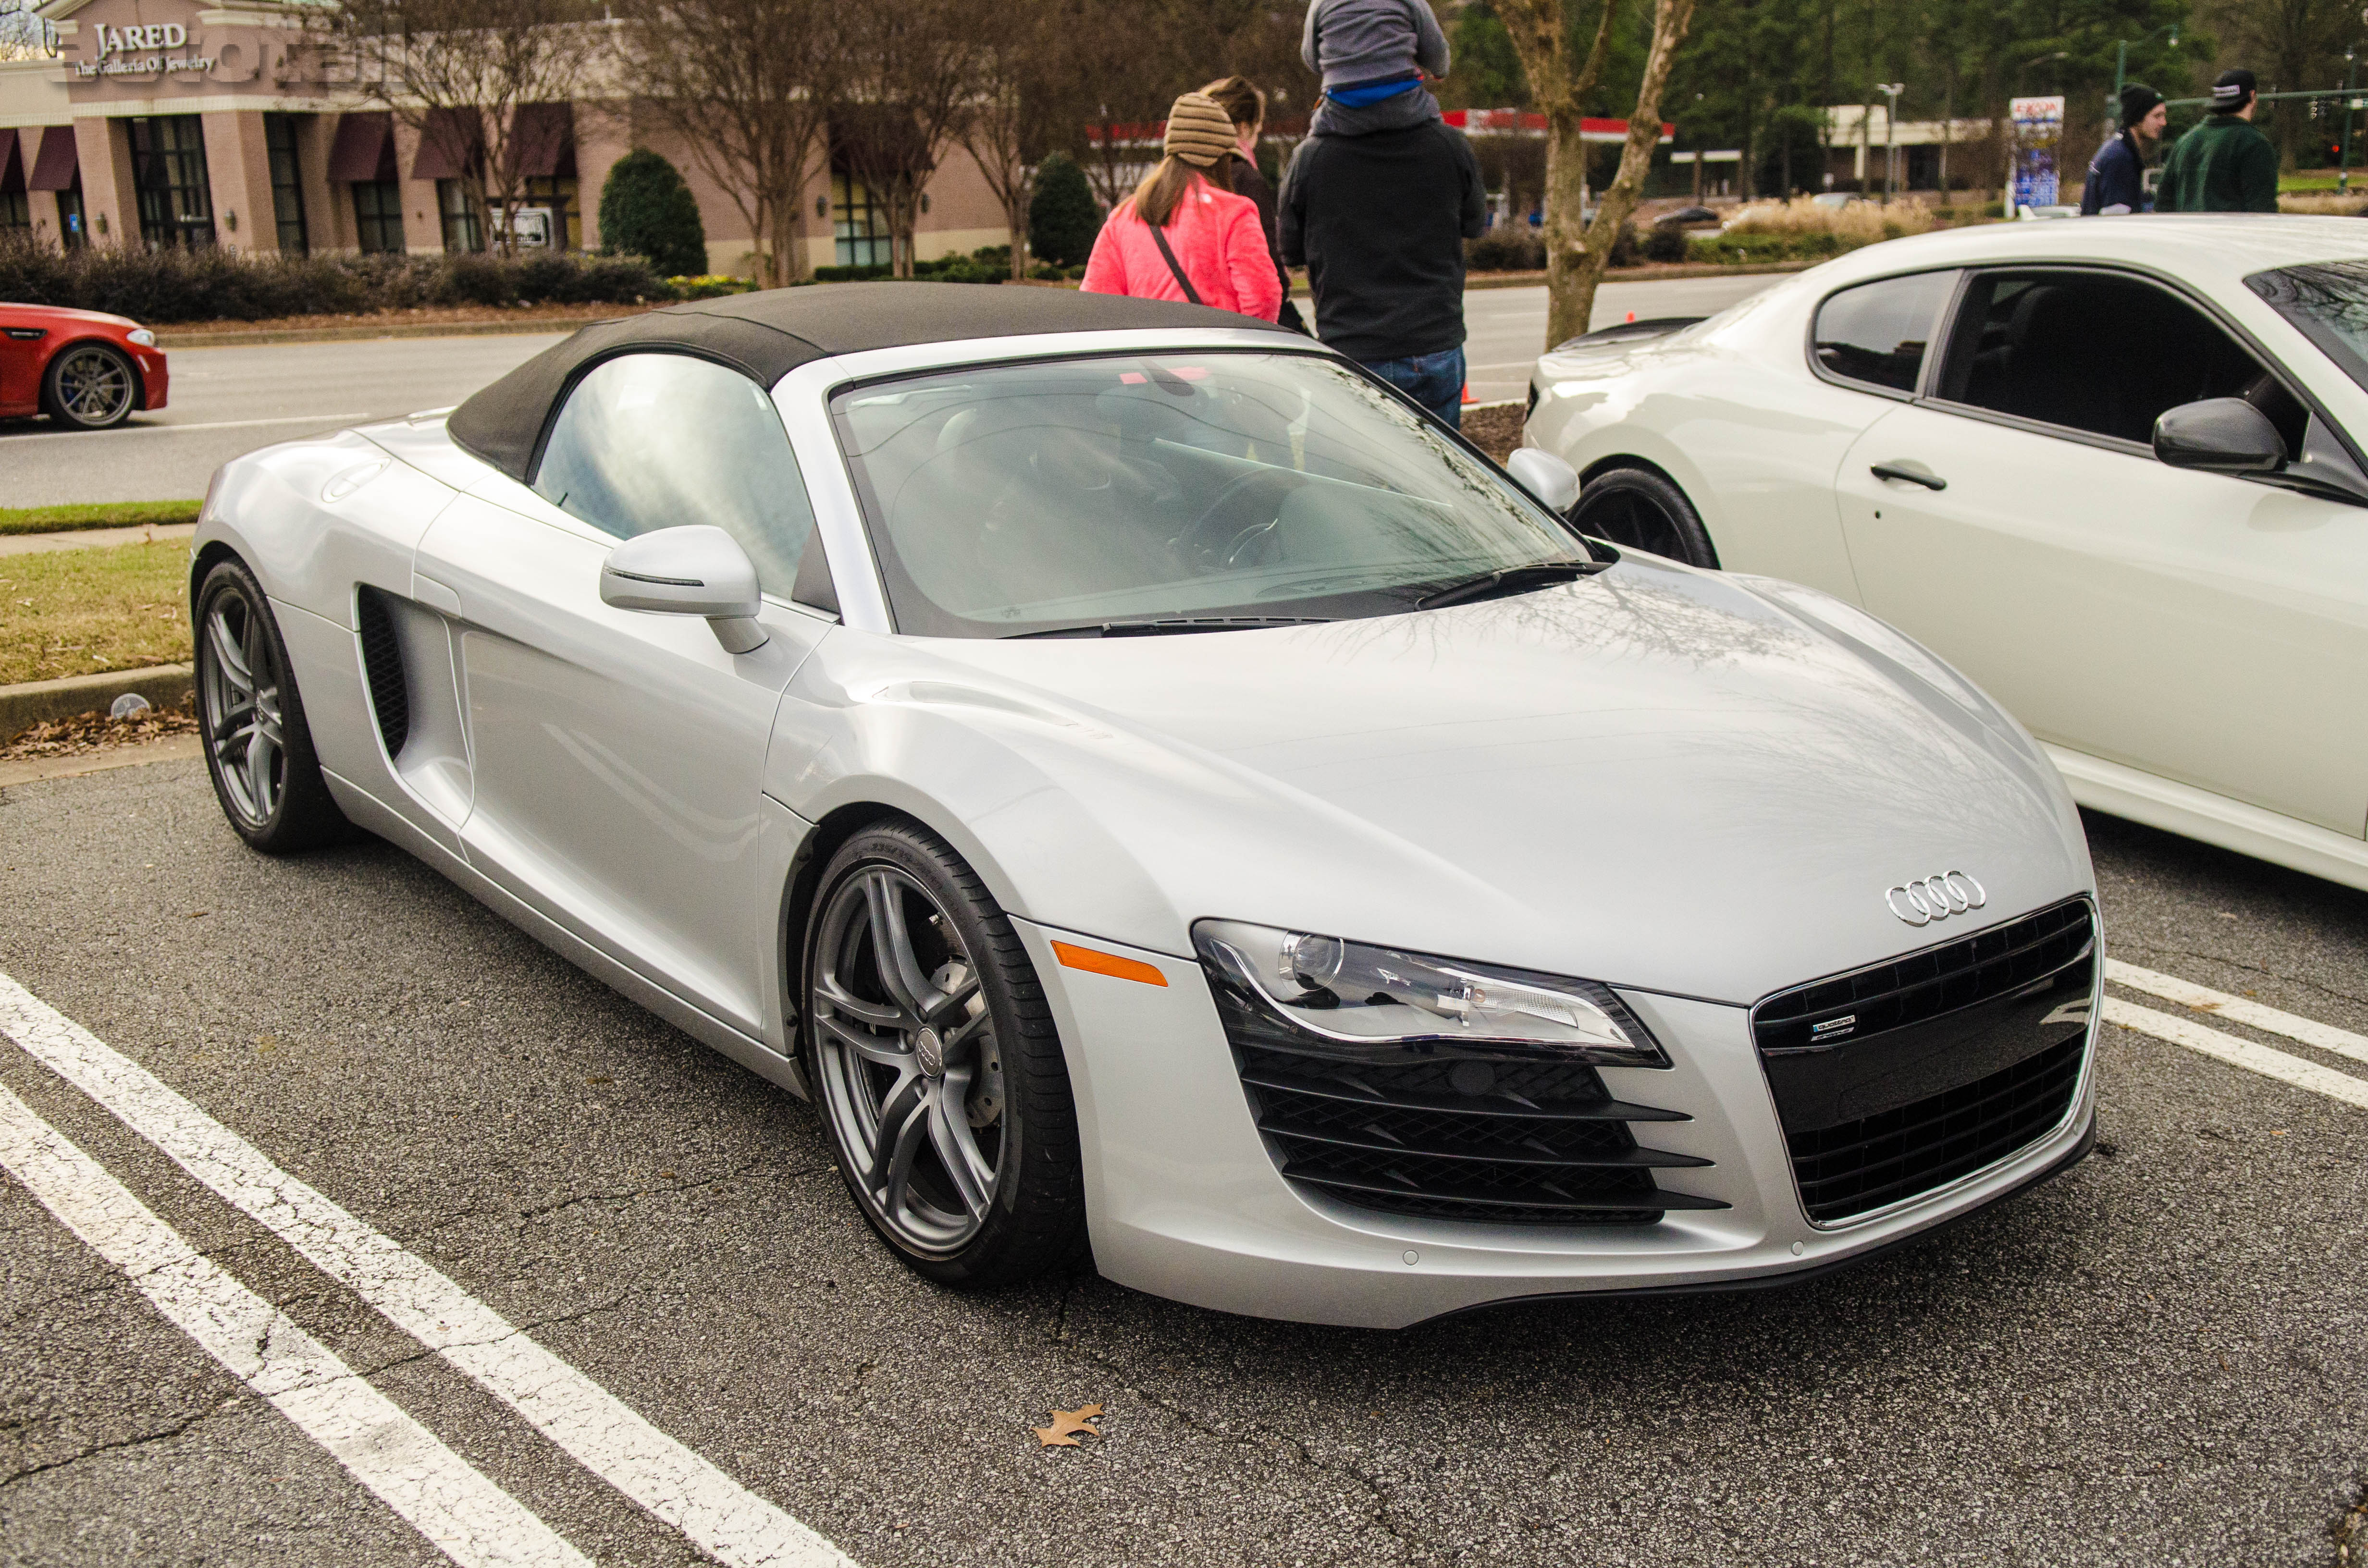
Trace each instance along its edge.
<path fill-rule="evenodd" d="M 1916 403 L 1838 478 L 1866 606 L 2041 739 L 2359 836 L 2368 509 L 2174 469 L 2153 422 L 2309 407 L 2212 315 L 2122 272 L 1968 277 Z"/>

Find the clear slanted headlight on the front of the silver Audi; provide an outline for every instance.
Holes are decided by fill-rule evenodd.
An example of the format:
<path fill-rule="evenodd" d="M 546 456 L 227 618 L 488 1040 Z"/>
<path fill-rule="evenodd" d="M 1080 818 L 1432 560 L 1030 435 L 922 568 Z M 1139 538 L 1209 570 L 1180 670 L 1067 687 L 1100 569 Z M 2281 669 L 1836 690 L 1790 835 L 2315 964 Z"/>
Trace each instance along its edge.
<path fill-rule="evenodd" d="M 1241 1002 L 1317 1040 L 1354 1047 L 1513 1047 L 1603 1066 L 1669 1066 L 1608 985 L 1497 969 L 1246 921 L 1193 924 L 1193 947 Z"/>

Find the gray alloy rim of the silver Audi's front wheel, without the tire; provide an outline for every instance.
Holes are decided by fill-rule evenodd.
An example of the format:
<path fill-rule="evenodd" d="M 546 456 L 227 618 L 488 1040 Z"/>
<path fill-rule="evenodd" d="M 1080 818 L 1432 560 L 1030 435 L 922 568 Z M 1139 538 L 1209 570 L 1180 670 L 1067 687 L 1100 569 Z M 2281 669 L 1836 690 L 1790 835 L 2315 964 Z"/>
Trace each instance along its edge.
<path fill-rule="evenodd" d="M 822 1101 L 871 1222 L 950 1258 L 1002 1175 L 995 1016 L 952 919 L 914 876 L 860 867 L 822 910 L 812 971 Z"/>

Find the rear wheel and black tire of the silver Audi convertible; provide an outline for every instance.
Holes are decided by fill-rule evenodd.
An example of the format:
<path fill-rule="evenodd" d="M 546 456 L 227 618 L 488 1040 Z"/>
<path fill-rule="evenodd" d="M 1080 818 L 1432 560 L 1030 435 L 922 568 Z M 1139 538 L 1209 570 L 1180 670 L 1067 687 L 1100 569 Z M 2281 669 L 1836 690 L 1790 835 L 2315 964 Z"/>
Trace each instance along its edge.
<path fill-rule="evenodd" d="M 197 722 L 223 817 L 265 855 L 355 836 L 313 756 L 296 673 L 263 585 L 218 561 L 197 587 Z"/>

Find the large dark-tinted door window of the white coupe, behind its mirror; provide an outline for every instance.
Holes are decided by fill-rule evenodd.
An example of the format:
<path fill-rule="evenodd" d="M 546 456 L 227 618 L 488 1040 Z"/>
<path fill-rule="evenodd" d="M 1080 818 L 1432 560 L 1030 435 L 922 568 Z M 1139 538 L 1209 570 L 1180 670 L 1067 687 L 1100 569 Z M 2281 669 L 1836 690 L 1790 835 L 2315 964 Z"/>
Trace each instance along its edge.
<path fill-rule="evenodd" d="M 1973 279 L 1937 396 L 2015 419 L 2148 445 L 2164 410 L 2245 398 L 2302 455 L 2309 410 L 2219 322 L 2119 272 L 2015 270 Z"/>

